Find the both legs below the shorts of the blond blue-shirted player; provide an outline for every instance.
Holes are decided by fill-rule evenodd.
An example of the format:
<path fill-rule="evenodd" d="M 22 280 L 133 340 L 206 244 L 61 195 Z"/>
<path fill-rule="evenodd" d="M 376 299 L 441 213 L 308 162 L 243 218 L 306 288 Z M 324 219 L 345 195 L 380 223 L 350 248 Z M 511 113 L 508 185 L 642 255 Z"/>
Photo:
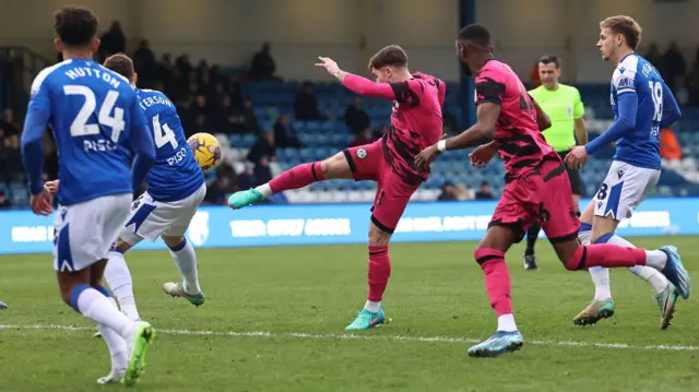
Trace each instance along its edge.
<path fill-rule="evenodd" d="M 579 238 L 582 245 L 612 243 L 636 248 L 631 242 L 614 234 L 619 221 L 611 216 L 594 216 L 594 201 L 588 204 L 581 221 Z M 670 326 L 675 312 L 675 304 L 678 299 L 678 292 L 675 286 L 662 273 L 650 266 L 635 265 L 630 266 L 629 271 L 647 281 L 653 287 L 655 290 L 654 299 L 660 308 L 660 325 L 662 329 Z M 592 302 L 573 318 L 573 323 L 578 325 L 594 324 L 602 319 L 612 317 L 615 311 L 609 284 L 609 271 L 605 268 L 595 266 L 590 269 L 590 275 L 595 286 L 595 295 Z"/>

